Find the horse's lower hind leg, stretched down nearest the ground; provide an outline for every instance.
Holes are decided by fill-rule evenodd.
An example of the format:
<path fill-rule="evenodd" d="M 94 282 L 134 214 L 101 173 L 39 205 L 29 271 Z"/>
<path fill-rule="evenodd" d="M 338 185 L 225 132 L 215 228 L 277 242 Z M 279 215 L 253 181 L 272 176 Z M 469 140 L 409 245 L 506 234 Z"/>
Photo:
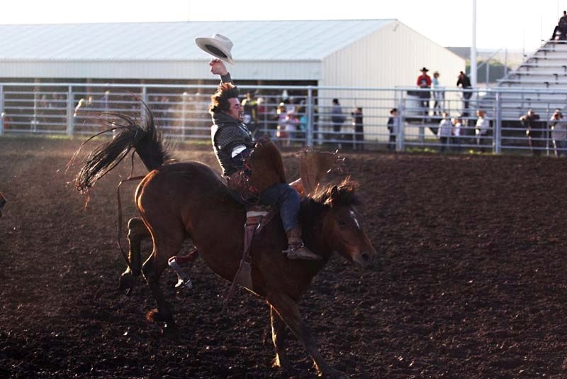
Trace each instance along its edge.
<path fill-rule="evenodd" d="M 164 294 L 159 287 L 159 278 L 162 276 L 165 268 L 167 268 L 167 260 L 172 256 L 171 252 L 179 251 L 183 240 L 184 236 L 182 233 L 176 236 L 176 233 L 173 231 L 169 231 L 169 234 L 164 238 L 154 236 L 154 251 L 142 265 L 142 273 L 144 273 L 147 285 L 150 286 L 152 295 L 157 302 L 157 312 L 150 312 L 148 319 L 164 322 L 164 334 L 174 341 L 179 339 L 179 331 L 174 322 L 169 304 L 164 299 Z"/>

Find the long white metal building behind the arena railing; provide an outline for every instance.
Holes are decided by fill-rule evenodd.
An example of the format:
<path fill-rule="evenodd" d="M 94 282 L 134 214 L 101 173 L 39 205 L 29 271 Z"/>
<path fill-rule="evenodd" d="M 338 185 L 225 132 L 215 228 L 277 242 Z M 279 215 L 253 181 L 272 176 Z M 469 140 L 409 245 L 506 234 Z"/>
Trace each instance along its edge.
<path fill-rule="evenodd" d="M 394 87 L 425 66 L 452 85 L 465 66 L 397 20 L 1 25 L 0 80 L 210 79 L 193 40 L 214 33 L 234 43 L 235 79 Z"/>

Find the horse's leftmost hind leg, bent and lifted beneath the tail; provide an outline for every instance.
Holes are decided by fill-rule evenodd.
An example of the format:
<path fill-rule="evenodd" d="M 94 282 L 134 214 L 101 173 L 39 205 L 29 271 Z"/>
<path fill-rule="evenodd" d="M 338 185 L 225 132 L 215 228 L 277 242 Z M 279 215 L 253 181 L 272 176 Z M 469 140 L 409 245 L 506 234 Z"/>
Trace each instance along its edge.
<path fill-rule="evenodd" d="M 135 217 L 128 221 L 128 243 L 130 245 L 128 258 L 130 260 L 130 266 L 126 268 L 124 273 L 120 276 L 120 290 L 128 290 L 128 295 L 132 292 L 135 278 L 140 276 L 142 268 L 142 241 L 150 237 L 150 231 L 147 230 L 142 219 Z"/>

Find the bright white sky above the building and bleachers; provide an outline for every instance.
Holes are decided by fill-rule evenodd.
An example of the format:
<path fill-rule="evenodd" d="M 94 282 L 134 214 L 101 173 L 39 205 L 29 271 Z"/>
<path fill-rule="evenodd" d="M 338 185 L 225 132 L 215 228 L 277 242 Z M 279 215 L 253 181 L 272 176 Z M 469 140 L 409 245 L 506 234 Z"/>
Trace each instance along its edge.
<path fill-rule="evenodd" d="M 473 0 L 4 0 L 0 24 L 397 18 L 442 46 L 471 46 Z M 476 0 L 478 50 L 533 52 L 567 0 Z M 229 36 L 230 37 L 230 36 Z"/>

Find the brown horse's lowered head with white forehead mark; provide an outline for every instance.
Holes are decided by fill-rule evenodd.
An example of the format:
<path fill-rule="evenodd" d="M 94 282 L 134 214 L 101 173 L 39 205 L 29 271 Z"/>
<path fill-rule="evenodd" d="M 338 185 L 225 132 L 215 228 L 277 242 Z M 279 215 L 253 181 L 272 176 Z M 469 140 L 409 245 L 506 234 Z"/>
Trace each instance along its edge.
<path fill-rule="evenodd" d="M 354 182 L 344 180 L 340 185 L 316 194 L 314 199 L 327 207 L 322 219 L 322 234 L 327 246 L 362 268 L 370 268 L 376 250 L 362 229 L 361 216 L 355 208 L 359 204 L 354 194 L 356 187 Z"/>

